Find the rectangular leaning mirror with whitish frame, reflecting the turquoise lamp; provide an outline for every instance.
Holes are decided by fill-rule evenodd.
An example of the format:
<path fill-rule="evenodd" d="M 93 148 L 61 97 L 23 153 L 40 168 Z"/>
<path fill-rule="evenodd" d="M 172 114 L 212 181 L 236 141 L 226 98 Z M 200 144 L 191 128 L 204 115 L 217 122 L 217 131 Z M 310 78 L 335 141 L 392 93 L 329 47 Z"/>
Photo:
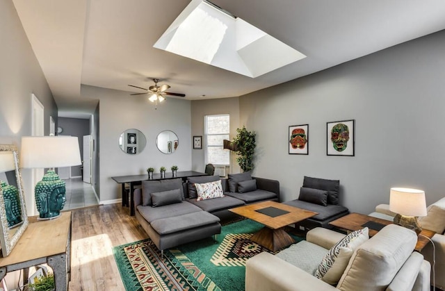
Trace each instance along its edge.
<path fill-rule="evenodd" d="M 19 154 L 13 144 L 0 144 L 1 252 L 8 256 L 28 226 Z"/>

